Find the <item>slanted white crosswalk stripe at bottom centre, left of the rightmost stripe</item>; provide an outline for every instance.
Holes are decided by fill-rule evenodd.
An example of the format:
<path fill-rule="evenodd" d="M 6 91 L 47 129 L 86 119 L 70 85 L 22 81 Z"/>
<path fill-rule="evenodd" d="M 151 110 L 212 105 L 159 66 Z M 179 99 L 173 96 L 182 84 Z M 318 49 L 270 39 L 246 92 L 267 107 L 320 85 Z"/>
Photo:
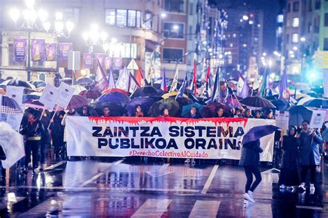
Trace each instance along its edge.
<path fill-rule="evenodd" d="M 140 208 L 134 212 L 132 218 L 137 217 L 152 217 L 152 218 L 160 218 L 163 213 L 167 211 L 167 206 L 171 203 L 170 199 L 147 199 L 145 203 L 143 203 Z"/>

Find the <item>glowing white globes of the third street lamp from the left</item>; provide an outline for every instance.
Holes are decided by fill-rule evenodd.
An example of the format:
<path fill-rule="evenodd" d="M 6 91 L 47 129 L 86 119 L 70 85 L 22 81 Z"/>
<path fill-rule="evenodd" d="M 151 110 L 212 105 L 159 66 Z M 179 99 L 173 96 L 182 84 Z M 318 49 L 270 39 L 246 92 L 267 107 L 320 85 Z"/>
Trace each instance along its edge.
<path fill-rule="evenodd" d="M 98 24 L 92 24 L 89 31 L 83 33 L 86 46 L 89 46 L 89 53 L 93 53 L 93 46 L 104 46 L 108 37 L 104 31 L 99 31 Z"/>

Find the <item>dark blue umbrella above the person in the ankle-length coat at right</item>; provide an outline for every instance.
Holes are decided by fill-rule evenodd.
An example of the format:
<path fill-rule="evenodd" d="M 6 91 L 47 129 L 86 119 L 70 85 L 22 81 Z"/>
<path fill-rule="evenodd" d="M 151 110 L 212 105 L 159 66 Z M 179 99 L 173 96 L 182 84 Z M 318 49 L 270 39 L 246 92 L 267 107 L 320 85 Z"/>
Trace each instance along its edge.
<path fill-rule="evenodd" d="M 289 109 L 289 125 L 300 126 L 304 120 L 311 120 L 312 110 L 303 105 L 292 106 Z"/>

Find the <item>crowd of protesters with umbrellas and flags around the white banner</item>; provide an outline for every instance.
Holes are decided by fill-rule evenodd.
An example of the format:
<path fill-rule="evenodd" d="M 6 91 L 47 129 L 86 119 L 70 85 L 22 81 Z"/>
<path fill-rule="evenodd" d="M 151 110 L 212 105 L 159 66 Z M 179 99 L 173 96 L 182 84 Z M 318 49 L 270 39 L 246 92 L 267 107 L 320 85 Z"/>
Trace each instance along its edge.
<path fill-rule="evenodd" d="M 286 82 L 286 74 L 275 87 L 273 84 L 264 83 L 258 87 L 253 84 L 252 87 L 240 73 L 237 80 L 220 80 L 219 69 L 214 82 L 208 73 L 206 81 L 189 81 L 186 76 L 182 83 L 177 80 L 177 76 L 167 81 L 165 72 L 159 82 L 148 83 L 143 79 L 140 69 L 136 77 L 127 69 L 123 69 L 118 80 L 114 82 L 111 72 L 107 78 L 101 66 L 98 66 L 98 69 L 96 76 L 82 77 L 78 80 L 56 78 L 54 85 L 41 80 L 24 82 L 12 78 L 0 84 L 1 120 L 7 121 L 24 136 L 25 155 L 16 163 L 22 172 L 33 170 L 34 173 L 38 173 L 44 170 L 47 156 L 69 160 L 86 158 L 67 157 L 65 128 L 69 116 L 109 117 L 109 120 L 118 116 L 275 120 L 275 116 L 278 119 L 282 111 L 288 111 L 289 120 L 287 124 L 284 123 L 288 126 L 280 126 L 280 129 L 275 131 L 273 163 L 265 164 L 281 170 L 281 190 L 292 191 L 298 186 L 305 190 L 308 172 L 310 188 L 312 191 L 315 189 L 313 184 L 316 181 L 316 167 L 320 165 L 320 158 L 326 154 L 328 129 L 325 120 L 322 120 L 320 128 L 311 127 L 311 115 L 320 109 L 325 112 L 322 105 L 327 100 L 313 96 L 313 93 L 312 96 L 297 90 L 292 93 Z M 67 104 L 50 102 L 53 105 L 48 106 L 49 102 L 44 99 L 51 101 L 51 96 L 46 97 L 44 92 L 50 90 L 48 93 L 53 93 L 51 90 L 61 87 L 71 87 L 73 90 Z M 12 98 L 14 90 L 21 90 L 21 100 Z M 19 95 L 15 94 L 15 97 L 17 96 Z M 12 120 L 15 118 L 12 117 L 17 114 L 21 114 L 21 117 L 16 119 L 14 125 Z M 6 147 L 3 140 L 0 140 L 0 143 Z M 261 152 L 259 140 L 243 145 L 239 165 L 245 168 L 248 180 L 245 198 L 249 201 L 253 201 L 252 193 L 261 181 Z M 163 161 L 163 158 L 155 159 Z M 197 160 L 184 158 L 181 161 L 194 165 Z M 227 160 L 220 161 L 226 163 Z M 238 164 L 238 161 L 233 161 L 234 163 Z M 252 185 L 253 174 L 256 180 Z"/>

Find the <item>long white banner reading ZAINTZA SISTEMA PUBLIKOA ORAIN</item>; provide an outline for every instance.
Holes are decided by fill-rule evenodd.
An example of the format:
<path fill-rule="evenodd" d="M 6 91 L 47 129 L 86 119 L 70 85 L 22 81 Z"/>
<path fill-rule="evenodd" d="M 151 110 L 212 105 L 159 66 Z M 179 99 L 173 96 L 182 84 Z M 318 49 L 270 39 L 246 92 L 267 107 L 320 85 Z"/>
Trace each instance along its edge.
<path fill-rule="evenodd" d="M 260 125 L 275 120 L 67 116 L 67 154 L 237 160 L 244 134 Z M 273 141 L 261 138 L 261 161 L 272 161 Z"/>

